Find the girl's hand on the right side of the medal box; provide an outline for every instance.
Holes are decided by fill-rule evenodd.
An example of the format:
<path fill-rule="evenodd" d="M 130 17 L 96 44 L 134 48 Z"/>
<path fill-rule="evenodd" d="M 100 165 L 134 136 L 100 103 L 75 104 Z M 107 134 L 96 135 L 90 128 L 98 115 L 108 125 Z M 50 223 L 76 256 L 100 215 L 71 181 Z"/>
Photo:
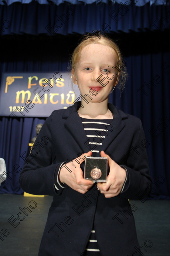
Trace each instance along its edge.
<path fill-rule="evenodd" d="M 121 192 L 126 179 L 126 170 L 114 162 L 104 151 L 101 151 L 100 155 L 107 157 L 110 173 L 107 176 L 107 182 L 98 182 L 97 187 L 106 198 L 115 197 Z"/>

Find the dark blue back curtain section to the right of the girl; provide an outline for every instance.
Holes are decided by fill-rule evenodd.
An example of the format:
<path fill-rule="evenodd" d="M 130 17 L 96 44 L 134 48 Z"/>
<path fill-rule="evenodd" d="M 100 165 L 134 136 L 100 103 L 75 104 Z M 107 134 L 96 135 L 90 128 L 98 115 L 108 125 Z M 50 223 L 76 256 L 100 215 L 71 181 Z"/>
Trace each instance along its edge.
<path fill-rule="evenodd" d="M 129 80 L 121 99 L 118 98 L 120 92 L 114 92 L 113 102 L 119 109 L 142 120 L 150 173 L 156 182 L 150 197 L 170 199 L 170 52 L 133 55 L 125 59 Z M 138 146 L 143 148 L 142 144 Z"/>

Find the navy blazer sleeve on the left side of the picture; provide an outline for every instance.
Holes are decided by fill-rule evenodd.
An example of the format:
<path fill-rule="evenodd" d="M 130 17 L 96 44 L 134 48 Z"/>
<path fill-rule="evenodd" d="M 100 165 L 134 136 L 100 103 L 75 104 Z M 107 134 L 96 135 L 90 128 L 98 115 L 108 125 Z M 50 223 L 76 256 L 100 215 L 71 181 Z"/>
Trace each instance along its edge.
<path fill-rule="evenodd" d="M 55 182 L 55 172 L 58 173 L 62 162 L 52 164 L 55 160 L 52 145 L 51 121 L 53 113 L 43 124 L 29 156 L 25 157 L 25 165 L 19 176 L 21 188 L 35 195 L 60 194 L 63 188 Z"/>

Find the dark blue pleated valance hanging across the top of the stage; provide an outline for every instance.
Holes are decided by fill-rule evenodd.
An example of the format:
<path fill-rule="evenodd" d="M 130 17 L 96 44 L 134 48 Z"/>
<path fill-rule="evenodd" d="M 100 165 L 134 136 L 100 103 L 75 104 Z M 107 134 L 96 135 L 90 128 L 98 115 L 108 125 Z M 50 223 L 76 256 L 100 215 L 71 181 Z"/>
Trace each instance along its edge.
<path fill-rule="evenodd" d="M 104 24 L 108 27 L 104 28 Z M 150 7 L 148 3 L 138 7 L 131 4 L 131 6 L 127 5 L 126 9 L 113 2 L 85 6 L 40 5 L 36 1 L 22 5 L 16 3 L 9 6 L 0 5 L 1 35 L 69 35 L 92 33 L 93 30 L 99 29 L 105 29 L 105 32 L 108 30 L 109 33 L 129 33 L 164 31 L 169 28 L 170 6 L 165 5 Z"/>

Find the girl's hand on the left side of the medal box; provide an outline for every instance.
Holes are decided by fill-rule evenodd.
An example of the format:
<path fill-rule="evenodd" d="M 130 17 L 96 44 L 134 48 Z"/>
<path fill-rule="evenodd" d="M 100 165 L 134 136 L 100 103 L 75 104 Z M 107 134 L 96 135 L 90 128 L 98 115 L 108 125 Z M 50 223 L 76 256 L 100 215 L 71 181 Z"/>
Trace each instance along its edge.
<path fill-rule="evenodd" d="M 83 178 L 83 171 L 80 168 L 80 164 L 84 162 L 86 156 L 91 155 L 92 152 L 89 151 L 82 154 L 79 158 L 75 158 L 75 160 L 73 160 L 73 164 L 76 165 L 76 167 L 74 167 L 73 164 L 71 164 L 70 162 L 64 164 L 61 167 L 59 173 L 60 182 L 67 184 L 69 187 L 79 193 L 85 194 L 90 189 L 90 187 L 94 185 L 94 183 L 91 180 L 85 180 Z M 71 172 L 65 166 L 68 167 Z"/>

